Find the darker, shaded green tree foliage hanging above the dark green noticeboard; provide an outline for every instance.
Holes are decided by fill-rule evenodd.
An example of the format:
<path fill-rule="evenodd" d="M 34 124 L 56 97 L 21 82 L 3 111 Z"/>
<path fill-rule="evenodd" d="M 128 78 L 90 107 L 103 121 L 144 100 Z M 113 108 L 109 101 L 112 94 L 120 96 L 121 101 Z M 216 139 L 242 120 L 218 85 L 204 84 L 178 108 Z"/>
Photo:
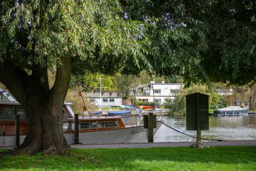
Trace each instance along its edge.
<path fill-rule="evenodd" d="M 149 60 L 160 75 L 182 75 L 188 85 L 198 81 L 255 83 L 255 1 L 142 0 L 122 4 L 131 19 L 160 19 L 154 23 L 157 29 L 149 30 L 150 54 L 154 54 Z"/>

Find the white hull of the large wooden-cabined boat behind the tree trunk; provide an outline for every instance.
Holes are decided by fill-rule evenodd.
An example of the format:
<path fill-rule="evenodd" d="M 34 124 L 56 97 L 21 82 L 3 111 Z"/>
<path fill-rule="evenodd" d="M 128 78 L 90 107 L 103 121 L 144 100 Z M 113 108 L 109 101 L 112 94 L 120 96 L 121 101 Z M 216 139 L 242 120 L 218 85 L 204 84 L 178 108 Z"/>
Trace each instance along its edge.
<path fill-rule="evenodd" d="M 157 122 L 157 132 L 161 122 Z M 74 144 L 74 133 L 64 133 L 67 144 Z M 20 136 L 20 144 L 26 136 Z M 144 126 L 126 127 L 120 129 L 111 129 L 104 131 L 79 132 L 79 142 L 82 144 L 114 144 L 129 142 L 147 142 L 147 129 Z M 0 146 L 16 146 L 15 136 L 0 136 Z"/>

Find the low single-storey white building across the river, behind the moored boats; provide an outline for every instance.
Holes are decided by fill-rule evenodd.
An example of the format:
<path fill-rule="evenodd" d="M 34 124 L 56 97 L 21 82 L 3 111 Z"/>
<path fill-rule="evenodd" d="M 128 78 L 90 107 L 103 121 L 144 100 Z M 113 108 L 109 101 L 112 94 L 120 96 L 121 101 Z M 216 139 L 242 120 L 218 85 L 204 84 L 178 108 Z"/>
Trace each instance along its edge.
<path fill-rule="evenodd" d="M 103 93 L 100 96 L 99 93 L 91 93 L 87 94 L 89 100 L 94 103 L 95 106 L 121 106 L 122 105 L 122 98 L 117 96 L 116 93 L 109 95 L 109 93 Z"/>

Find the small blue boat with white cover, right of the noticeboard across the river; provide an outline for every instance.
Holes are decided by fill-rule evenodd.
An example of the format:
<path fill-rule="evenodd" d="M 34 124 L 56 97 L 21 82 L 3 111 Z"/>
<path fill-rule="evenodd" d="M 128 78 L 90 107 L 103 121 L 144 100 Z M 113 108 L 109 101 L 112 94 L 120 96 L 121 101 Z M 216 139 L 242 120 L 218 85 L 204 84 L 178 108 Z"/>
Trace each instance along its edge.
<path fill-rule="evenodd" d="M 227 108 L 216 109 L 214 110 L 214 114 L 222 115 L 222 114 L 248 114 L 248 108 L 241 108 L 240 106 L 229 106 Z"/>

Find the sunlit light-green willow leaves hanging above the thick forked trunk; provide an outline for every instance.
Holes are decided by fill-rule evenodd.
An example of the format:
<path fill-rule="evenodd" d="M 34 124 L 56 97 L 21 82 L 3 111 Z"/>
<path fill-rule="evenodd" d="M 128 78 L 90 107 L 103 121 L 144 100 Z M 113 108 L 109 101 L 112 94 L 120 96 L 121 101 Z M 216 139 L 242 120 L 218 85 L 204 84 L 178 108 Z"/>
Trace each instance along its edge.
<path fill-rule="evenodd" d="M 151 70 L 143 31 L 149 24 L 125 19 L 118 1 L 4 1 L 0 17 L 1 62 L 29 70 L 67 57 L 76 73 L 114 73 L 124 62 Z"/>

